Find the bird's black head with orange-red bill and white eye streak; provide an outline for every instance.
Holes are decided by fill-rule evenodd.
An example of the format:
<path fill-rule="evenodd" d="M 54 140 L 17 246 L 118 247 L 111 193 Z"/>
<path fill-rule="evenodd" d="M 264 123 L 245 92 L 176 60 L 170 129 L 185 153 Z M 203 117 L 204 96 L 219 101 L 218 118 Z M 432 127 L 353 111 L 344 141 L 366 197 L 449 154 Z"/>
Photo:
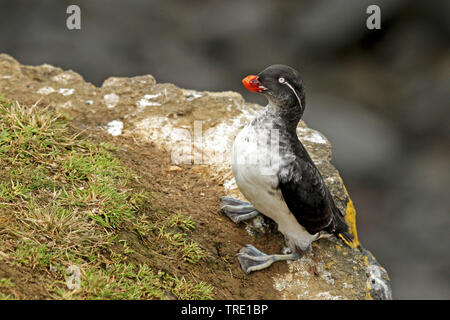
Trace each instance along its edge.
<path fill-rule="evenodd" d="M 297 111 L 303 114 L 305 92 L 298 72 L 286 65 L 274 64 L 257 76 L 242 80 L 244 86 L 254 92 L 264 94 L 270 103 L 284 111 Z"/>

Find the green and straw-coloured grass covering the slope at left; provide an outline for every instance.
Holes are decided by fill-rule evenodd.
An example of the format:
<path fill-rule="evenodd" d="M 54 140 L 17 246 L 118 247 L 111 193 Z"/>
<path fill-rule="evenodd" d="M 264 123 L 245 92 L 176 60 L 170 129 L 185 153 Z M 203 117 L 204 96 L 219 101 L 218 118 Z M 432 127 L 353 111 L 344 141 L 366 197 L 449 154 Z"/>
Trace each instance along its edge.
<path fill-rule="evenodd" d="M 135 175 L 113 155 L 115 146 L 80 139 L 69 126 L 67 116 L 0 96 L 0 257 L 38 275 L 47 298 L 211 298 L 206 283 L 129 262 L 134 250 L 119 239 L 127 226 L 186 263 L 204 251 L 188 237 L 191 218 L 149 217 L 147 196 L 133 189 Z M 81 270 L 75 290 L 66 286 L 71 265 Z M 18 298 L 15 282 L 0 279 L 0 299 Z"/>

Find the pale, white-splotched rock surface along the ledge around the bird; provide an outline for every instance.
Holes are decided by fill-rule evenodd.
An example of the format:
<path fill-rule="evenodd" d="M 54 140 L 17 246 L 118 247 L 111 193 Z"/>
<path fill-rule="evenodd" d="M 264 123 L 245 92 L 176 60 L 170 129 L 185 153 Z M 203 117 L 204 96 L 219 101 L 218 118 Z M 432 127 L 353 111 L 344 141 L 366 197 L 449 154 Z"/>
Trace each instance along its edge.
<path fill-rule="evenodd" d="M 223 183 L 226 195 L 242 198 L 231 173 L 231 144 L 261 106 L 245 102 L 238 93 L 183 90 L 157 83 L 150 75 L 111 77 L 97 88 L 71 70 L 24 66 L 5 54 L 0 55 L 0 93 L 22 103 L 39 101 L 76 112 L 91 130 L 151 141 L 171 152 L 174 168 L 178 163 L 201 164 Z M 288 272 L 272 275 L 274 288 L 282 299 L 392 299 L 386 270 L 358 241 L 356 211 L 330 162 L 330 143 L 304 122 L 298 133 L 346 213 L 355 242 L 352 247 L 336 238 L 315 242 L 312 252 L 289 262 Z M 267 232 L 264 225 L 256 219 L 252 230 Z"/>

